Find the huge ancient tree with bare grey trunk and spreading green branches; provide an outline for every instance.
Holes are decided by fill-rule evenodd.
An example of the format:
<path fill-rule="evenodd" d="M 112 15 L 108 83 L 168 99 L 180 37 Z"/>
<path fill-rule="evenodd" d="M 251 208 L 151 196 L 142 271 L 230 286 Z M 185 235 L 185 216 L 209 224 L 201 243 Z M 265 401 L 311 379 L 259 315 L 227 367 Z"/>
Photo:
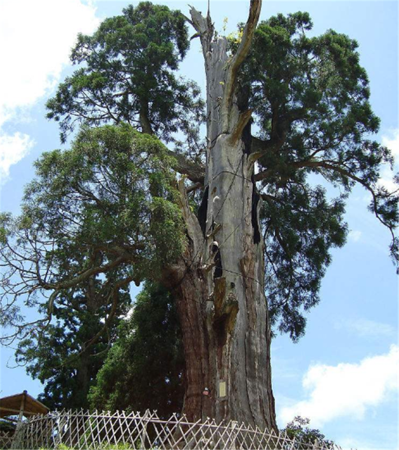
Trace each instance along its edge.
<path fill-rule="evenodd" d="M 303 334 L 355 184 L 391 230 L 394 257 L 397 202 L 378 185 L 392 157 L 369 139 L 379 120 L 356 41 L 307 37 L 301 12 L 259 22 L 260 9 L 251 0 L 225 37 L 209 11 L 188 18 L 146 2 L 79 37 L 72 60 L 84 65 L 47 106 L 62 139 L 83 128 L 71 150 L 36 163 L 22 216 L 2 217 L 2 320 L 19 336 L 17 300 L 41 301 L 48 314 L 30 327 L 43 329 L 60 299 L 84 292 L 105 305 L 92 345 L 121 289 L 155 280 L 176 302 L 188 417 L 276 428 L 272 326 Z M 176 76 L 187 23 L 202 46 L 206 111 Z M 341 194 L 329 198 L 320 178 Z"/>

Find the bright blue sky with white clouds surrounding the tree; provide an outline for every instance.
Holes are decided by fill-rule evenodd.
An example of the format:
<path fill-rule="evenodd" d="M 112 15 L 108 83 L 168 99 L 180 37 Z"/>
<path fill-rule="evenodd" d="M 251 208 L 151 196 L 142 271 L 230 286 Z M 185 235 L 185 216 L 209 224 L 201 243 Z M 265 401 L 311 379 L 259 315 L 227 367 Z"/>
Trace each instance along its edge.
<path fill-rule="evenodd" d="M 0 1 L 1 211 L 18 212 L 32 162 L 62 148 L 56 124 L 44 119 L 44 103 L 72 70 L 68 55 L 76 33 L 91 33 L 129 3 Z M 186 1 L 163 3 L 188 15 Z M 205 1 L 190 3 L 206 11 Z M 247 16 L 246 0 L 210 4 L 219 31 L 224 17 L 228 33 Z M 381 118 L 377 139 L 393 149 L 398 164 L 398 1 L 264 1 L 261 18 L 297 10 L 310 13 L 313 34 L 333 28 L 358 40 Z M 203 90 L 202 67 L 197 39 L 181 71 Z M 389 175 L 384 169 L 381 182 L 388 184 Z M 299 414 L 344 448 L 397 449 L 398 277 L 388 255 L 389 233 L 367 211 L 368 202 L 360 188 L 349 199 L 348 243 L 333 252 L 306 335 L 297 344 L 287 336 L 274 340 L 273 390 L 280 426 Z M 1 349 L 0 396 L 23 389 L 39 394 L 42 386 L 24 368 L 7 368 L 10 356 Z"/>

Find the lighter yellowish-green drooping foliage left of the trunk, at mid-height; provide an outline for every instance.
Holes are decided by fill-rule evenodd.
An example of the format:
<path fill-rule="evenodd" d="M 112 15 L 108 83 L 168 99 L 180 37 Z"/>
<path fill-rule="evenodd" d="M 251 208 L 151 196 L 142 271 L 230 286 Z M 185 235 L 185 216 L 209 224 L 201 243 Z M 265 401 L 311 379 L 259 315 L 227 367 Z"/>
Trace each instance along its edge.
<path fill-rule="evenodd" d="M 7 281 L 0 320 L 16 326 L 13 337 L 21 331 L 17 300 L 40 307 L 38 294 L 49 290 L 42 326 L 51 320 L 56 299 L 78 307 L 76 295 L 83 293 L 95 305 L 107 305 L 105 332 L 121 290 L 179 257 L 185 228 L 172 163 L 155 136 L 126 124 L 85 128 L 71 150 L 43 154 L 21 216 L 1 216 Z M 24 334 L 37 324 L 23 324 Z"/>

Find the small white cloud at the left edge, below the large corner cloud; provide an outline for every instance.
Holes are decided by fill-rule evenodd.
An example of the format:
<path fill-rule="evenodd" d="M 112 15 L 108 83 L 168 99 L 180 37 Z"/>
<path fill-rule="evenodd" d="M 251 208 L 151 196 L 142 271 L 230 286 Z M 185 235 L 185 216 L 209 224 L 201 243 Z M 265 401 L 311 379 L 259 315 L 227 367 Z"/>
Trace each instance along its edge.
<path fill-rule="evenodd" d="M 0 137 L 0 180 L 3 185 L 9 179 L 9 168 L 25 157 L 33 147 L 34 141 L 19 132 Z"/>

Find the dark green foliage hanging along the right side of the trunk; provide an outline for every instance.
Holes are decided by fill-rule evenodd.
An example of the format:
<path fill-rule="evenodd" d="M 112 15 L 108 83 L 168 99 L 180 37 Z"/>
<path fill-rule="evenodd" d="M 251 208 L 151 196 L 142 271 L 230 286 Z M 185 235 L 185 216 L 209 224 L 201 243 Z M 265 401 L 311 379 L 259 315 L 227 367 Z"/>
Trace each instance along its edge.
<path fill-rule="evenodd" d="M 312 26 L 306 12 L 260 22 L 239 79 L 258 130 L 251 152 L 264 200 L 271 319 L 294 341 L 304 334 L 303 311 L 320 300 L 330 249 L 345 243 L 345 200 L 356 184 L 371 194 L 369 209 L 390 229 L 398 261 L 397 195 L 379 185 L 381 165 L 392 167 L 393 157 L 371 140 L 379 119 L 358 44 L 333 30 L 308 37 Z M 234 52 L 239 38 L 229 42 Z M 336 199 L 328 186 L 340 189 Z"/>

